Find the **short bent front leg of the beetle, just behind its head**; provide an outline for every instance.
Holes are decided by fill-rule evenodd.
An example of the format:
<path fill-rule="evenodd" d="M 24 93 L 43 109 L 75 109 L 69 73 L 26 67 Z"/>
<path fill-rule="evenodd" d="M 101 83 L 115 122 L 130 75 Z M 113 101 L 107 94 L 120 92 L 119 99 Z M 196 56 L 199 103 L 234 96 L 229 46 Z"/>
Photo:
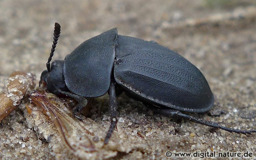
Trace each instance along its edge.
<path fill-rule="evenodd" d="M 66 95 L 70 98 L 74 98 L 77 102 L 78 102 L 78 105 L 76 105 L 73 109 L 72 109 L 72 113 L 73 113 L 73 116 L 78 118 L 80 121 L 83 120 L 83 118 L 81 116 L 79 116 L 79 112 L 84 108 L 84 106 L 86 106 L 87 104 L 87 99 L 84 98 L 83 96 L 80 96 L 80 95 L 76 95 L 76 94 L 73 94 L 73 93 L 70 93 L 70 92 L 66 92 L 66 91 L 63 91 L 63 90 L 60 90 L 60 89 L 57 89 L 57 92 L 63 94 L 63 95 Z"/>

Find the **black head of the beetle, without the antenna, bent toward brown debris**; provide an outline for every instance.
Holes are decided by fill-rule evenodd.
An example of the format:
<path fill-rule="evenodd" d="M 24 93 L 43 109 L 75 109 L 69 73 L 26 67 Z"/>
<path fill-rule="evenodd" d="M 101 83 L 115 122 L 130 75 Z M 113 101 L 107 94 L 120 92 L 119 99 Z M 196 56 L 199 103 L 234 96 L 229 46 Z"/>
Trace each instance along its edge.
<path fill-rule="evenodd" d="M 68 90 L 64 80 L 63 67 L 64 61 L 62 60 L 52 62 L 50 72 L 48 72 L 48 70 L 42 72 L 39 85 L 41 83 L 45 84 L 47 90 L 56 95 L 58 95 L 57 88 L 60 90 Z"/>

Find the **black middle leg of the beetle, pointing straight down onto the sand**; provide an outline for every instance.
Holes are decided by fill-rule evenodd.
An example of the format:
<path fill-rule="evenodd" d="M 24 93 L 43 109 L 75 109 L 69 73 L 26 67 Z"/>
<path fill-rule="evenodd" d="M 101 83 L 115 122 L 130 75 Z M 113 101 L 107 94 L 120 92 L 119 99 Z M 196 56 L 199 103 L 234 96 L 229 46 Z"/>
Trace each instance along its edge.
<path fill-rule="evenodd" d="M 112 136 L 114 127 L 116 127 L 117 129 L 117 105 L 116 105 L 116 89 L 115 89 L 115 84 L 114 82 L 110 83 L 110 89 L 108 92 L 109 96 L 110 96 L 110 115 L 111 115 L 111 122 L 110 122 L 110 128 L 108 129 L 107 135 L 105 137 L 104 140 L 104 144 L 108 143 L 108 140 L 110 139 L 110 137 Z"/>

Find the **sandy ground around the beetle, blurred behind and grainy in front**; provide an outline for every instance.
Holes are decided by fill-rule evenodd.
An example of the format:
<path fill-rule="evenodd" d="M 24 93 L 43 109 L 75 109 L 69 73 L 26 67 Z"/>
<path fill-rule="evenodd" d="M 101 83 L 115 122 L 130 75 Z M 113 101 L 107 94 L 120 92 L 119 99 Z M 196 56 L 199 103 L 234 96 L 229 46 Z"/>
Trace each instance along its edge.
<path fill-rule="evenodd" d="M 54 22 L 61 24 L 62 34 L 53 60 L 64 59 L 84 40 L 117 27 L 119 34 L 154 40 L 177 51 L 202 71 L 215 103 L 210 111 L 193 115 L 226 127 L 256 128 L 253 0 L 1 0 L 0 15 L 0 90 L 14 71 L 34 73 L 38 83 L 46 69 Z M 124 94 L 118 97 L 118 132 L 101 149 L 110 122 L 107 102 L 107 96 L 97 99 L 83 124 L 96 135 L 89 137 L 98 149 L 90 158 L 167 159 L 166 151 L 248 151 L 256 156 L 255 133 L 232 134 L 154 114 Z M 0 158 L 78 159 L 62 144 L 53 124 L 46 117 L 38 119 L 43 114 L 37 110 L 28 114 L 25 104 L 26 100 L 1 122 Z"/>

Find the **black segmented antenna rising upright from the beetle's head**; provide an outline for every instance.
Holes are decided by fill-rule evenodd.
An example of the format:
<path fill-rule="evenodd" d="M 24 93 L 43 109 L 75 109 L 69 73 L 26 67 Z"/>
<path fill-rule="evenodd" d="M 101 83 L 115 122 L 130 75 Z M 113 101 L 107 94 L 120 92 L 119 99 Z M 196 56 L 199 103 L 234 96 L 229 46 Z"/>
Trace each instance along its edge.
<path fill-rule="evenodd" d="M 58 39 L 59 39 L 59 36 L 60 36 L 60 24 L 55 22 L 54 24 L 54 33 L 53 33 L 53 45 L 52 45 L 52 50 L 51 50 L 51 53 L 50 53 L 50 56 L 48 58 L 48 62 L 46 63 L 46 67 L 47 67 L 47 70 L 48 72 L 50 72 L 50 61 L 52 60 L 52 57 L 53 57 L 53 54 L 54 54 L 54 51 L 55 51 L 55 48 L 56 48 L 56 45 L 58 43 Z"/>

